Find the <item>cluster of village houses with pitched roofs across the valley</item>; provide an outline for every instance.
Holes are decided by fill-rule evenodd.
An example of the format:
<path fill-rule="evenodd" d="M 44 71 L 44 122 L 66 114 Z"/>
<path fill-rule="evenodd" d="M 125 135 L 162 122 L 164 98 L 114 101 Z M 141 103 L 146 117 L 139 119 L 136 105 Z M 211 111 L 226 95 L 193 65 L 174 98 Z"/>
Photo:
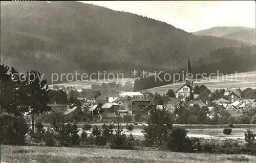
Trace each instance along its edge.
<path fill-rule="evenodd" d="M 230 97 L 230 99 L 229 99 Z M 212 117 L 213 108 L 208 106 L 208 102 L 203 103 L 200 100 L 185 101 L 180 98 L 168 98 L 166 96 L 152 96 L 146 90 L 141 92 L 123 92 L 119 96 L 100 95 L 96 99 L 77 98 L 81 103 L 81 108 L 76 105 L 50 105 L 53 111 L 62 111 L 64 114 L 76 114 L 78 110 L 88 112 L 98 116 L 99 120 L 114 121 L 117 117 L 124 115 L 135 115 L 136 113 L 147 114 L 148 107 L 152 104 L 157 105 L 157 109 L 165 108 L 169 112 L 174 112 L 181 106 L 193 107 L 195 104 L 199 107 L 207 106 Z M 229 100 L 227 100 L 229 99 Z M 254 100 L 241 100 L 237 92 L 228 91 L 222 99 L 214 100 L 213 103 L 225 107 L 232 116 L 243 115 L 249 107 L 255 107 Z"/>

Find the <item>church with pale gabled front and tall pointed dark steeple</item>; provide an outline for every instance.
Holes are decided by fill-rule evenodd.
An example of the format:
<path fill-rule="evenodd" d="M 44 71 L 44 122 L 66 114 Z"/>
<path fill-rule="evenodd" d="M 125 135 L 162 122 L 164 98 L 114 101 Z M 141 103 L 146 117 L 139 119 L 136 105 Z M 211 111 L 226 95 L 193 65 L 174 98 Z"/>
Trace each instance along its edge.
<path fill-rule="evenodd" d="M 193 96 L 193 97 L 190 97 L 190 96 Z M 187 71 L 185 76 L 185 84 L 182 85 L 176 91 L 176 98 L 180 98 L 181 100 L 185 100 L 186 98 L 189 98 L 190 100 L 194 100 L 194 77 L 193 77 L 193 74 L 191 74 L 189 57 L 188 57 Z"/>

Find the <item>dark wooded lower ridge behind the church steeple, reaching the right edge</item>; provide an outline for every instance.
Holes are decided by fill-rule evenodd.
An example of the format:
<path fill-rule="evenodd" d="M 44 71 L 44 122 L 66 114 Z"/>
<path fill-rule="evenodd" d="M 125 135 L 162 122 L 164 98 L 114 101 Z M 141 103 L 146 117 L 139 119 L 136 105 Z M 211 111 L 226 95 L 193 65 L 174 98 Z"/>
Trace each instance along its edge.
<path fill-rule="evenodd" d="M 241 73 L 248 71 L 256 71 L 256 51 L 255 46 L 240 46 L 240 47 L 228 47 L 222 49 L 216 49 L 210 52 L 209 56 L 202 57 L 199 61 L 202 62 L 200 65 L 191 64 L 192 73 L 194 77 L 196 74 L 217 74 L 217 71 L 222 74 L 231 74 L 231 73 Z M 167 72 L 172 74 L 179 73 L 182 75 L 182 71 L 185 69 L 176 69 L 172 72 Z M 165 73 L 159 75 L 160 79 L 164 78 Z M 201 76 L 197 76 L 201 78 Z M 205 75 L 204 75 L 205 77 Z M 157 78 L 158 79 L 158 78 Z M 168 80 L 168 78 L 166 79 Z M 176 79 L 177 80 L 177 79 Z M 180 80 L 182 81 L 182 79 Z M 173 79 L 170 81 L 155 81 L 155 76 L 148 78 L 141 78 L 135 80 L 134 91 L 148 89 L 153 87 L 158 87 L 166 84 L 173 83 Z"/>

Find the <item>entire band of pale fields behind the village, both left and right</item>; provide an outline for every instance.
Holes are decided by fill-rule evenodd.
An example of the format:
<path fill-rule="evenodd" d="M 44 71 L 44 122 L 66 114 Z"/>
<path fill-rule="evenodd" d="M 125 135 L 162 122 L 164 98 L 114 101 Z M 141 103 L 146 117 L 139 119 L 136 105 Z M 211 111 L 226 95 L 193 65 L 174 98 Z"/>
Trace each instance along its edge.
<path fill-rule="evenodd" d="M 131 81 L 134 83 L 136 78 L 123 78 L 123 79 L 110 79 L 110 80 L 103 80 L 102 81 L 73 81 L 67 83 L 61 83 L 57 85 L 63 86 L 75 86 L 77 90 L 82 90 L 82 88 L 91 88 L 92 84 L 101 84 L 102 82 L 117 82 L 121 83 L 122 85 L 125 84 L 126 81 Z M 225 75 L 223 77 L 211 77 L 210 79 L 197 79 L 195 84 L 202 85 L 204 84 L 210 90 L 220 89 L 220 88 L 241 88 L 245 89 L 251 87 L 253 89 L 256 88 L 256 72 L 252 73 L 245 73 L 245 74 L 234 74 L 234 75 Z M 165 94 L 168 89 L 178 89 L 182 86 L 184 82 L 177 82 L 175 84 L 167 84 L 155 88 L 147 89 L 149 92 L 158 92 L 159 94 Z M 53 88 L 53 85 L 49 85 L 49 88 Z"/>

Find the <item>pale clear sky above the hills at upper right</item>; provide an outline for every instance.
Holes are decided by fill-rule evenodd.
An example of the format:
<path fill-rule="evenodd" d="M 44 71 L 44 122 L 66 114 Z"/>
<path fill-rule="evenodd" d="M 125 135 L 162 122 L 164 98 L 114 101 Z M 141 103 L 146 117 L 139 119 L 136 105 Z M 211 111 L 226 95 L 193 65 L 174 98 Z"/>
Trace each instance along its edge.
<path fill-rule="evenodd" d="M 255 1 L 80 1 L 151 17 L 187 32 L 216 26 L 255 28 Z"/>

